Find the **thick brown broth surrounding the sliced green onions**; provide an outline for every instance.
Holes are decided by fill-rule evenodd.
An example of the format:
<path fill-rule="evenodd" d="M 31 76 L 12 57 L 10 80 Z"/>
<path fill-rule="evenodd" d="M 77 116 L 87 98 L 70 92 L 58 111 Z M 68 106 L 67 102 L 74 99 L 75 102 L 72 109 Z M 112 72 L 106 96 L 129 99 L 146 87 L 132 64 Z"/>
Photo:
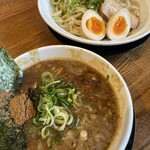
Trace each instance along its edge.
<path fill-rule="evenodd" d="M 70 59 L 47 60 L 40 62 L 24 71 L 25 82 L 22 87 L 27 91 L 40 81 L 45 71 L 53 73 L 56 78 L 63 77 L 79 88 L 83 97 L 83 107 L 74 112 L 79 116 L 78 132 L 68 135 L 69 128 L 63 131 L 64 141 L 55 146 L 55 150 L 105 150 L 111 143 L 118 122 L 117 101 L 106 78 L 96 70 L 82 62 Z M 42 139 L 38 128 L 28 130 L 29 120 L 25 125 L 28 150 L 49 149 L 52 135 Z M 83 130 L 82 130 L 83 129 Z M 86 137 L 82 134 L 86 132 Z M 70 132 L 69 132 L 70 133 Z"/>

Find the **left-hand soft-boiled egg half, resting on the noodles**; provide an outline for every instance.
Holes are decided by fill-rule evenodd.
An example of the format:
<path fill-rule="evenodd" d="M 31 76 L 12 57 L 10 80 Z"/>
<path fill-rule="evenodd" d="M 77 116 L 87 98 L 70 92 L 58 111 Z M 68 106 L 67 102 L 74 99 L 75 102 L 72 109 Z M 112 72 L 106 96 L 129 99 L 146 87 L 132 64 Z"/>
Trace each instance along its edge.
<path fill-rule="evenodd" d="M 85 37 L 92 40 L 101 40 L 105 37 L 105 24 L 103 18 L 93 10 L 87 10 L 81 21 L 82 32 Z"/>

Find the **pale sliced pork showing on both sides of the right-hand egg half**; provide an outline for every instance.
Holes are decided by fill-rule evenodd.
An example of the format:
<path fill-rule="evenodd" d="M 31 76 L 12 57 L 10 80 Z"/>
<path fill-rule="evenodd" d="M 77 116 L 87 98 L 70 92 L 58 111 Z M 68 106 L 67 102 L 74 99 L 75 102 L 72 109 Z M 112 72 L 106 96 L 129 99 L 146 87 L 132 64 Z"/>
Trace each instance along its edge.
<path fill-rule="evenodd" d="M 100 14 L 106 16 L 108 19 L 122 9 L 123 7 L 117 3 L 115 0 L 104 0 L 101 9 L 100 9 Z M 139 24 L 139 17 L 130 12 L 130 17 L 131 17 L 131 28 L 137 28 Z"/>

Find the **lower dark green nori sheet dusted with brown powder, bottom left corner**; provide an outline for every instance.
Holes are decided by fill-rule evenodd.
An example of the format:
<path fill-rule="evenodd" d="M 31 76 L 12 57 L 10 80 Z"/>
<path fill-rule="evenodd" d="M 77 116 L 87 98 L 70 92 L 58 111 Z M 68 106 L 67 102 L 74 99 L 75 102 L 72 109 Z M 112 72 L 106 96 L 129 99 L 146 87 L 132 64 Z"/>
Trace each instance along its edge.
<path fill-rule="evenodd" d="M 0 150 L 25 150 L 26 135 L 23 125 L 15 124 L 10 112 L 10 101 L 15 96 L 0 99 Z"/>

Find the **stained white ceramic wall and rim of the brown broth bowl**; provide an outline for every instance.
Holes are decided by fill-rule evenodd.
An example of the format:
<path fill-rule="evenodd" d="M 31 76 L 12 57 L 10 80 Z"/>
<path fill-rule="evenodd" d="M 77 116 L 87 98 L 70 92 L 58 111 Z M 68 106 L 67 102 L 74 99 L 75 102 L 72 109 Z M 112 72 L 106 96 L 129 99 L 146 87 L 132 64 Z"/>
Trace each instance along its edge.
<path fill-rule="evenodd" d="M 43 60 L 52 58 L 73 58 L 87 63 L 104 77 L 116 93 L 119 106 L 119 126 L 109 150 L 123 150 L 127 146 L 133 125 L 133 104 L 128 87 L 119 72 L 101 56 L 74 46 L 47 46 L 29 51 L 15 59 L 22 70 Z"/>

